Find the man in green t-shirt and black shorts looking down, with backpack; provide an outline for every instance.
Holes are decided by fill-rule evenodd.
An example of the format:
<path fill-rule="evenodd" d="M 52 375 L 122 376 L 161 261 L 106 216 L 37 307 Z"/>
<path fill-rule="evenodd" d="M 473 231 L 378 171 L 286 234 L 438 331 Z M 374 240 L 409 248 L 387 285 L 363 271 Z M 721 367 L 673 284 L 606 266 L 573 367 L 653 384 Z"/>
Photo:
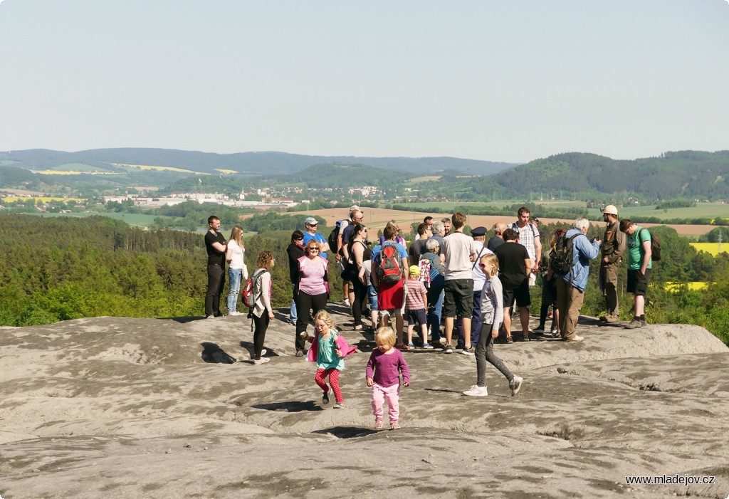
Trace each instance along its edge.
<path fill-rule="evenodd" d="M 650 269 L 653 266 L 650 249 L 650 232 L 630 219 L 620 221 L 620 232 L 627 235 L 628 249 L 628 293 L 635 297 L 635 315 L 625 327 L 628 329 L 646 326 L 645 294 L 648 291 Z"/>

